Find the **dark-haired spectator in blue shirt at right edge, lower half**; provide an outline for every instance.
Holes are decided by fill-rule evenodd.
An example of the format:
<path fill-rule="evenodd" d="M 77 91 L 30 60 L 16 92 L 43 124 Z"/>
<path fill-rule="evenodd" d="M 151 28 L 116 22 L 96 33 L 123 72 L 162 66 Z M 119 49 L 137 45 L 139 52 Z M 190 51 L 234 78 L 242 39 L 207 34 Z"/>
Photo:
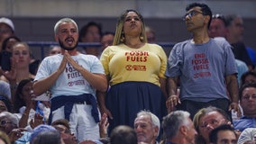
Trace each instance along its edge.
<path fill-rule="evenodd" d="M 233 120 L 236 130 L 256 127 L 256 83 L 242 85 L 239 90 L 239 99 L 243 116 L 241 119 Z"/>

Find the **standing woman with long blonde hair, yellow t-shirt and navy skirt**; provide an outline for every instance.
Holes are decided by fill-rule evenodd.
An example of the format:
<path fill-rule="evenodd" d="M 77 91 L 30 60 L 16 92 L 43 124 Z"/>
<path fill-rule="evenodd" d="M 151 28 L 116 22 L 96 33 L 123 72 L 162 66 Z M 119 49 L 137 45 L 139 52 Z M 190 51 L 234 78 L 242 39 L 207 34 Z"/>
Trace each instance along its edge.
<path fill-rule="evenodd" d="M 147 43 L 141 14 L 126 10 L 118 19 L 113 46 L 100 58 L 110 89 L 98 93 L 101 112 L 110 117 L 110 130 L 133 127 L 136 113 L 149 110 L 159 119 L 166 115 L 165 71 L 167 56 L 157 44 Z"/>

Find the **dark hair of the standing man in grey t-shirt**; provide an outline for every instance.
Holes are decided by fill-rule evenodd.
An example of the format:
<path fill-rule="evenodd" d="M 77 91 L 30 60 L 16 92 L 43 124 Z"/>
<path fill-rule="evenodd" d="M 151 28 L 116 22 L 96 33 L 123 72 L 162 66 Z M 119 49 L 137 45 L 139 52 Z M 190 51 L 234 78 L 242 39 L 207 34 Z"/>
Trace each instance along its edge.
<path fill-rule="evenodd" d="M 192 3 L 192 4 L 187 5 L 186 11 L 189 11 L 191 8 L 194 8 L 194 7 L 200 7 L 201 11 L 204 15 L 209 15 L 210 16 L 210 20 L 209 20 L 209 23 L 207 25 L 207 28 L 209 29 L 210 24 L 212 22 L 212 16 L 213 16 L 210 7 L 207 4 Z"/>

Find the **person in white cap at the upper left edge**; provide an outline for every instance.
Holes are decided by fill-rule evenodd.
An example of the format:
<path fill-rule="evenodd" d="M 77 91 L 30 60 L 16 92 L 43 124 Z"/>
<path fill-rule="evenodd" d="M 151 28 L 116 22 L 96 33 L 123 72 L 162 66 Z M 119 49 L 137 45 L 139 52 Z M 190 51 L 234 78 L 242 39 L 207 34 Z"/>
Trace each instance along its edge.
<path fill-rule="evenodd" d="M 2 17 L 0 18 L 0 52 L 2 51 L 3 41 L 14 35 L 14 23 L 12 20 Z"/>

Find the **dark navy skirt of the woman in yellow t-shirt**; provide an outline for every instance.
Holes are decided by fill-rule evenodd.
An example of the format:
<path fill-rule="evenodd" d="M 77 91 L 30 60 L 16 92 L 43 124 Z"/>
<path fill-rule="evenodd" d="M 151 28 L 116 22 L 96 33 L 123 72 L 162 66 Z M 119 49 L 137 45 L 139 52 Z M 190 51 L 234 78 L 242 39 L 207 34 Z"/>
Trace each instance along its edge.
<path fill-rule="evenodd" d="M 109 130 L 118 125 L 133 128 L 136 114 L 142 110 L 154 113 L 162 120 L 167 114 L 165 96 L 160 86 L 148 82 L 123 82 L 112 85 L 107 96 L 106 106 L 114 119 L 109 120 Z"/>

